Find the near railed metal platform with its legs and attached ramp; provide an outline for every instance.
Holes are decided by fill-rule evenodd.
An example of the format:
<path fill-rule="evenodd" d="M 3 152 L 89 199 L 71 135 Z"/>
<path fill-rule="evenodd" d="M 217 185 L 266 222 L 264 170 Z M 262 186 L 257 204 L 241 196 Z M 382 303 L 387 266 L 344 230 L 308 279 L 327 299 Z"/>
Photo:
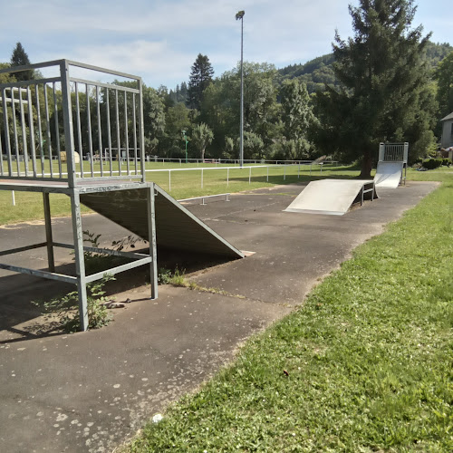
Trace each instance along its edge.
<path fill-rule="evenodd" d="M 57 75 L 17 82 L 9 74 L 43 68 Z M 81 70 L 95 75 L 82 79 L 76 73 Z M 193 254 L 244 256 L 161 188 L 146 182 L 139 76 L 69 60 L 5 68 L 0 73 L 7 81 L 0 83 L 0 190 L 41 192 L 46 233 L 45 242 L 3 250 L 0 256 L 47 247 L 48 270 L 6 264 L 0 268 L 75 284 L 82 330 L 88 328 L 86 286 L 105 274 L 149 265 L 151 298 L 157 298 L 158 243 Z M 99 82 L 107 77 L 111 82 Z M 119 78 L 130 82 L 118 84 Z M 73 245 L 53 241 L 49 196 L 54 193 L 71 198 Z M 83 246 L 81 203 L 147 239 L 149 254 Z M 74 250 L 75 275 L 55 273 L 55 246 Z M 86 251 L 129 262 L 86 275 Z"/>

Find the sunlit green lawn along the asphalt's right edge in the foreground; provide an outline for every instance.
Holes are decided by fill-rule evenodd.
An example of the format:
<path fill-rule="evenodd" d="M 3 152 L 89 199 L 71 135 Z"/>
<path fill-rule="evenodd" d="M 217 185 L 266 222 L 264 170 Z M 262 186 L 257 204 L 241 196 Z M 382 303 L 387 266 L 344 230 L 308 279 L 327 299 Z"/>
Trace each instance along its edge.
<path fill-rule="evenodd" d="M 443 173 L 450 182 L 130 451 L 453 451 L 453 181 Z"/>

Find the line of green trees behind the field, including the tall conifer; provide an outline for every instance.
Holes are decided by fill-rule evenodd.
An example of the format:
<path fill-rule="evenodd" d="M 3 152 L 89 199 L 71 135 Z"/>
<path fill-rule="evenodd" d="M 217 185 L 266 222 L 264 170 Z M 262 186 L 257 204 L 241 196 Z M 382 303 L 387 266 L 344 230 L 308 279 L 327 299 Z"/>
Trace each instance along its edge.
<path fill-rule="evenodd" d="M 411 0 L 361 0 L 332 54 L 281 70 L 245 62 L 245 159 L 361 159 L 369 177 L 381 141 L 409 141 L 410 159 L 432 148 L 453 111 L 453 48 L 413 27 L 415 12 Z M 239 66 L 214 77 L 198 54 L 188 82 L 144 86 L 146 153 L 184 158 L 185 130 L 189 158 L 237 159 L 239 102 Z"/>

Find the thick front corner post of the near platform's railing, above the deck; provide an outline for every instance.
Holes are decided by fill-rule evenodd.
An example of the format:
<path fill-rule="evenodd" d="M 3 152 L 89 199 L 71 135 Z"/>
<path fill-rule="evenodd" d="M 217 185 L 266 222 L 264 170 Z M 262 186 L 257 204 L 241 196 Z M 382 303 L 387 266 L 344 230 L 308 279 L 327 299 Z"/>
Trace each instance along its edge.
<path fill-rule="evenodd" d="M 74 130 L 72 128 L 71 86 L 69 82 L 69 64 L 66 62 L 66 60 L 63 60 L 63 62 L 60 64 L 60 74 L 62 79 L 62 110 L 63 110 L 64 142 L 66 147 L 66 163 L 68 169 L 68 186 L 70 188 L 75 188 L 77 180 L 75 176 L 75 158 L 74 158 L 75 148 L 74 148 Z M 59 164 L 61 165 L 61 163 L 62 162 L 60 159 Z M 86 290 L 84 294 L 86 299 Z M 81 297 L 81 291 L 79 291 L 79 297 Z"/>

